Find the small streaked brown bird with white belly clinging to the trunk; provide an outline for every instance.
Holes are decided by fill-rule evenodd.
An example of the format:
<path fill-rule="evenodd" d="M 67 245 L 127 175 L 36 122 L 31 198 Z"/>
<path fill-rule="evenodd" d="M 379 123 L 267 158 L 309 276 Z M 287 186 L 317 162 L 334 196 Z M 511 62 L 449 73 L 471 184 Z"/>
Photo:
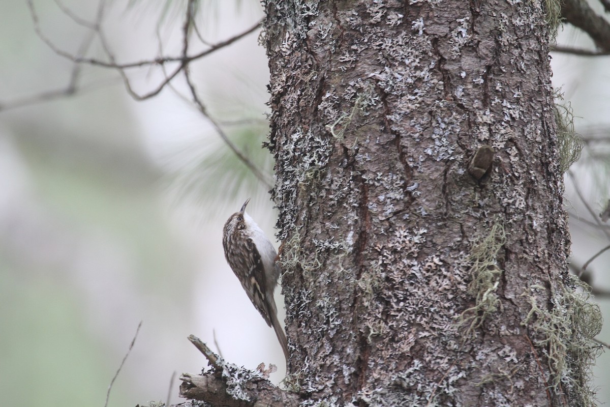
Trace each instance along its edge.
<path fill-rule="evenodd" d="M 223 228 L 224 257 L 239 278 L 248 298 L 267 325 L 271 326 L 288 360 L 288 342 L 278 321 L 273 289 L 278 284 L 278 254 L 259 225 L 246 214 L 248 200 L 242 209 L 229 217 Z"/>

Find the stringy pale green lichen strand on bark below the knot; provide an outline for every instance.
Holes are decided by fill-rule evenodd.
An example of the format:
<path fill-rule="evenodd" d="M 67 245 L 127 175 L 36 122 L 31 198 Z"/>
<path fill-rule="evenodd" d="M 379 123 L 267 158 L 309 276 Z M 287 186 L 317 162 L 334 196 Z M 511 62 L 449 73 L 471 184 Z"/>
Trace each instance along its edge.
<path fill-rule="evenodd" d="M 468 261 L 472 281 L 468 284 L 468 294 L 475 297 L 475 305 L 468 308 L 459 318 L 459 325 L 468 326 L 465 339 L 483 324 L 487 317 L 498 311 L 500 298 L 496 293 L 502 270 L 498 265 L 498 253 L 506 243 L 506 233 L 501 223 L 495 223 L 489 234 L 473 246 Z"/>

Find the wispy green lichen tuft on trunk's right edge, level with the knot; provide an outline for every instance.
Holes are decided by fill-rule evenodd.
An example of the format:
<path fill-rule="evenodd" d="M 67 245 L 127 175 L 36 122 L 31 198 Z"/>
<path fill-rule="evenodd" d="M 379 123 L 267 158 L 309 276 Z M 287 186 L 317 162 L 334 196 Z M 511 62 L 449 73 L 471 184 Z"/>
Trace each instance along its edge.
<path fill-rule="evenodd" d="M 557 126 L 559 167 L 564 173 L 580 158 L 584 142 L 574 130 L 572 106 L 569 102 L 562 103 L 564 98 L 559 89 L 555 90 L 554 99 L 553 113 Z"/>

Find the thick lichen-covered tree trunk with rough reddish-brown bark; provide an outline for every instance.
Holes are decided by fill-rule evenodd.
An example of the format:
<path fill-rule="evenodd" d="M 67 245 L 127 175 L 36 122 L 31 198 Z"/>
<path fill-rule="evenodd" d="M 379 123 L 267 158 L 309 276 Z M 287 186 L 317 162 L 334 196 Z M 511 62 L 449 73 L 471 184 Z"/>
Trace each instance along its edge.
<path fill-rule="evenodd" d="M 289 390 L 590 405 L 544 1 L 264 7 Z"/>

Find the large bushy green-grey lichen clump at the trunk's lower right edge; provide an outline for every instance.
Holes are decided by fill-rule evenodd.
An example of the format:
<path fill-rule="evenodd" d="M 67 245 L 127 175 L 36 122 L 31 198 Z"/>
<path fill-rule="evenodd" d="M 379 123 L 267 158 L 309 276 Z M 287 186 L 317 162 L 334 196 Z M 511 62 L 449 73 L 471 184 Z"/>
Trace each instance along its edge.
<path fill-rule="evenodd" d="M 551 373 L 549 386 L 556 394 L 565 394 L 569 405 L 594 405 L 589 387 L 590 367 L 601 353 L 592 340 L 601 331 L 603 319 L 597 304 L 590 301 L 590 287 L 570 275 L 568 286 L 551 293 L 551 306 L 539 300 L 544 287 L 533 286 L 524 292 L 531 309 L 523 321 L 532 332 L 534 345 L 542 352 Z"/>

